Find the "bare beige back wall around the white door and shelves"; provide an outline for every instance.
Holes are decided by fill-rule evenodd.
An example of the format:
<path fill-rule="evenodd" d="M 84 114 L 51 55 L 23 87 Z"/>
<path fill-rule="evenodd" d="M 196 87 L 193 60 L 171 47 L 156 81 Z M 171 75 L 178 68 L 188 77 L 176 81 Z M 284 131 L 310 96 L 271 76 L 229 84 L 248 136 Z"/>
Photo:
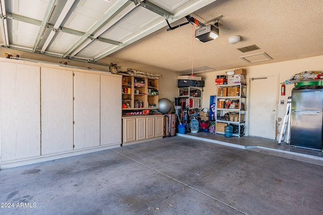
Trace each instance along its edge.
<path fill-rule="evenodd" d="M 249 82 L 250 77 L 261 77 L 261 76 L 269 76 L 269 75 L 279 75 L 279 83 L 283 83 L 286 80 L 288 80 L 291 76 L 297 73 L 301 73 L 302 71 L 323 71 L 323 56 L 316 56 L 316 57 L 309 57 L 304 59 L 298 59 L 298 60 L 289 60 L 289 61 L 283 61 L 283 62 L 277 62 L 277 63 L 268 63 L 263 65 L 255 65 L 255 66 L 248 66 L 244 67 L 247 71 L 247 84 Z M 233 68 L 235 69 L 235 68 Z M 228 70 L 233 70 L 228 69 Z M 215 79 L 217 75 L 225 75 L 226 71 L 228 70 L 222 70 L 222 71 L 212 71 L 210 73 L 206 73 L 205 75 L 200 75 L 202 78 L 205 79 L 205 87 L 203 91 L 203 98 L 202 98 L 202 108 L 209 108 L 209 96 L 210 95 L 216 95 L 216 85 L 215 85 Z M 293 89 L 294 85 L 286 85 L 286 94 L 285 96 L 281 96 L 281 91 L 279 89 L 279 97 L 278 101 L 284 100 L 284 104 L 281 105 L 278 104 L 278 114 L 277 118 L 280 120 L 284 118 L 285 115 L 285 108 L 287 104 L 287 98 L 288 96 L 291 96 L 291 91 Z M 247 96 L 248 96 L 249 88 L 247 85 Z M 266 92 L 271 93 L 271 92 Z M 284 107 L 284 110 L 282 110 L 282 106 Z M 247 104 L 248 107 L 248 104 Z M 246 117 L 247 118 L 247 117 Z M 279 120 L 278 120 L 279 121 Z M 259 121 L 259 126 L 261 126 L 261 122 Z M 248 121 L 246 121 L 246 125 L 248 125 Z M 281 128 L 281 123 L 279 125 L 278 130 Z"/>

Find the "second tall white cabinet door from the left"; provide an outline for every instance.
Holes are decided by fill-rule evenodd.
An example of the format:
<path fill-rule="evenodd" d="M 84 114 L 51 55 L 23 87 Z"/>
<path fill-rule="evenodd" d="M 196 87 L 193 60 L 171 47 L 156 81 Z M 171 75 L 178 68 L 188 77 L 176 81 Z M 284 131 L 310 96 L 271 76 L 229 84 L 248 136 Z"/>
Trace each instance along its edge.
<path fill-rule="evenodd" d="M 41 67 L 41 154 L 73 150 L 73 71 Z"/>

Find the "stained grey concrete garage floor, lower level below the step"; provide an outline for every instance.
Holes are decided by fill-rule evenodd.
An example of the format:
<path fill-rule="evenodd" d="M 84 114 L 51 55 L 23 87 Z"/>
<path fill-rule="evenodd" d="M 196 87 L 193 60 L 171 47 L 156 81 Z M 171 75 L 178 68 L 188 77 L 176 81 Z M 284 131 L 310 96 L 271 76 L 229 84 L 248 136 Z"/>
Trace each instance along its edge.
<path fill-rule="evenodd" d="M 322 165 L 250 149 L 174 136 L 5 169 L 0 214 L 323 214 Z"/>

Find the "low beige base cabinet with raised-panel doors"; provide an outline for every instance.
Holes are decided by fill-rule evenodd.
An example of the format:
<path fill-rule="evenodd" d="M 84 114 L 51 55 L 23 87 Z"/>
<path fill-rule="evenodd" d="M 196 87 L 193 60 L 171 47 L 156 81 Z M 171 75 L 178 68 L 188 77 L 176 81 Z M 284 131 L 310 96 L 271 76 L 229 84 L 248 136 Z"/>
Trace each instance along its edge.
<path fill-rule="evenodd" d="M 164 115 L 124 116 L 123 146 L 163 138 Z"/>

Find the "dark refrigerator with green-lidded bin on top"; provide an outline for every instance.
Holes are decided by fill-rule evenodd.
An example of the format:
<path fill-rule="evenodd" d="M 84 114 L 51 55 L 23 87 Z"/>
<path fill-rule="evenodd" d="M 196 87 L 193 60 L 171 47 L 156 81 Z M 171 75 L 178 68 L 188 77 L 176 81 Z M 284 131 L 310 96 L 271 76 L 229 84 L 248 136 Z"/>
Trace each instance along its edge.
<path fill-rule="evenodd" d="M 310 88 L 310 89 L 309 89 Z M 291 139 L 293 147 L 322 150 L 322 86 L 295 87 L 292 90 Z"/>

